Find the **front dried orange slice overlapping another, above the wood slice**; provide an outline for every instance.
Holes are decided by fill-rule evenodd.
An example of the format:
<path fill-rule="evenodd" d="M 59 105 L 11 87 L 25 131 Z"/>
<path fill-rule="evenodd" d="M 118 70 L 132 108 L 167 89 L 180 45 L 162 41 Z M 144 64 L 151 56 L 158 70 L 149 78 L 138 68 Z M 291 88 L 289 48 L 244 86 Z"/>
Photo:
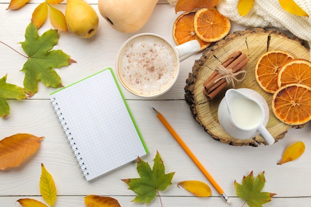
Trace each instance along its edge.
<path fill-rule="evenodd" d="M 205 42 L 223 39 L 230 28 L 230 20 L 216 8 L 200 8 L 194 16 L 194 31 Z"/>

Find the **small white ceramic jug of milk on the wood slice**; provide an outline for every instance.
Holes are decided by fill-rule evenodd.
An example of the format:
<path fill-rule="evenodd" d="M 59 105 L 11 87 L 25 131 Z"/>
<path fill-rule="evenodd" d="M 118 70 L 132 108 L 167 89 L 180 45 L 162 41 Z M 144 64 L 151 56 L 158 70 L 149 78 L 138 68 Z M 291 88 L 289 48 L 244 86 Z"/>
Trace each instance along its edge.
<path fill-rule="evenodd" d="M 268 144 L 275 141 L 265 128 L 269 120 L 268 104 L 252 89 L 227 90 L 219 104 L 218 120 L 233 138 L 248 139 L 260 134 Z"/>

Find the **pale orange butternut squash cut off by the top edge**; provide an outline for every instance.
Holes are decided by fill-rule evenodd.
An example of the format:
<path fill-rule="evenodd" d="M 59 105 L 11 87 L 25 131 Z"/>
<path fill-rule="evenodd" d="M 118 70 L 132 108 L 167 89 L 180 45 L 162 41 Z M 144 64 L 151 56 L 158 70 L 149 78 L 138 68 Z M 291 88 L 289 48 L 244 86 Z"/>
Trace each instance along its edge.
<path fill-rule="evenodd" d="M 149 20 L 158 0 L 98 0 L 100 15 L 114 29 L 132 33 Z"/>

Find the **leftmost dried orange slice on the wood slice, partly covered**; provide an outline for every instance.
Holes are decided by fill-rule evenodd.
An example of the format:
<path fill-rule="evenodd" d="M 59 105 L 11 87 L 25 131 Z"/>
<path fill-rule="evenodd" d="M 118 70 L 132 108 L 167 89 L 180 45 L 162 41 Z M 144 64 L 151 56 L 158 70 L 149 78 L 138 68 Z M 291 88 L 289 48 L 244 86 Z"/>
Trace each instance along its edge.
<path fill-rule="evenodd" d="M 277 73 L 279 69 L 294 57 L 285 51 L 269 51 L 260 56 L 255 66 L 255 77 L 260 87 L 268 93 L 274 93 L 279 87 Z"/>

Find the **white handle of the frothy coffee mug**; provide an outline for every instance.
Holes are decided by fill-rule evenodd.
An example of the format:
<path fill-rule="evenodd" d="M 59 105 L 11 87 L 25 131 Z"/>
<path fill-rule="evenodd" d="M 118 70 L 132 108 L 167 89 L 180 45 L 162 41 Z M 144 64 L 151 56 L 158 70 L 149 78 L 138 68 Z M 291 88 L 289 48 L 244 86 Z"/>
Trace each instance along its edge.
<path fill-rule="evenodd" d="M 196 54 L 201 50 L 201 46 L 199 41 L 190 40 L 181 45 L 175 46 L 175 50 L 177 51 L 179 61 L 182 62 L 189 58 L 190 56 Z"/>

